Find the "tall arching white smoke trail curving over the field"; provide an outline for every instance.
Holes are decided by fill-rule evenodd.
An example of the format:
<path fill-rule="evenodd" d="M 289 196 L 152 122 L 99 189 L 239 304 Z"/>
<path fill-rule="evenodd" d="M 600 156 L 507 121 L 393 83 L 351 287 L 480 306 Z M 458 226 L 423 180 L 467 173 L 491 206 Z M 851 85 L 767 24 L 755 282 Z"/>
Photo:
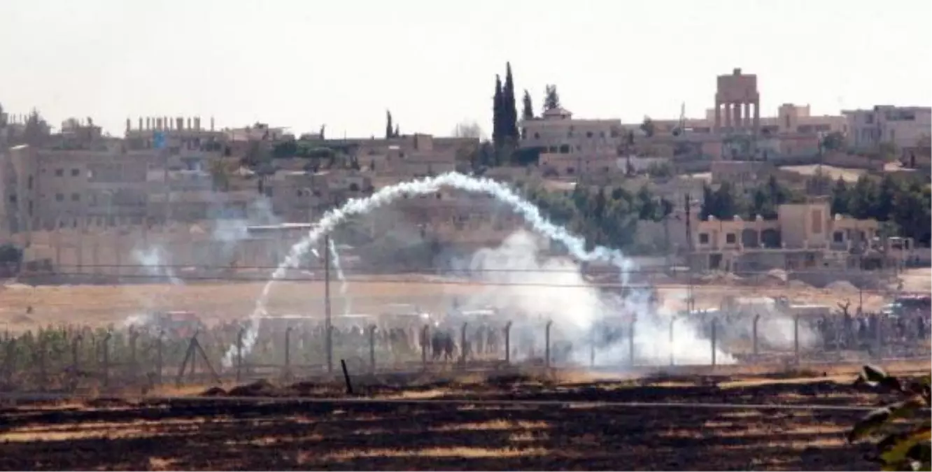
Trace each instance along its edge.
<path fill-rule="evenodd" d="M 294 267 L 301 257 L 314 247 L 320 238 L 330 233 L 340 223 L 345 222 L 350 216 L 368 213 L 373 209 L 385 206 L 402 198 L 403 196 L 420 196 L 432 194 L 440 190 L 441 187 L 449 186 L 459 190 L 486 194 L 497 199 L 500 203 L 511 207 L 519 213 L 528 225 L 537 233 L 546 236 L 552 240 L 559 241 L 576 260 L 581 262 L 604 261 L 615 265 L 620 269 L 622 282 L 627 282 L 627 274 L 631 268 L 631 262 L 628 261 L 622 251 L 597 246 L 593 250 L 585 249 L 585 240 L 569 233 L 569 230 L 563 226 L 551 223 L 543 217 L 541 210 L 533 204 L 515 194 L 508 186 L 487 178 L 474 178 L 456 172 L 448 172 L 436 177 L 419 179 L 411 182 L 401 182 L 395 185 L 384 187 L 375 194 L 366 198 L 350 199 L 345 205 L 338 209 L 331 209 L 324 214 L 323 218 L 312 229 L 308 236 L 298 241 L 289 251 L 285 260 L 272 273 L 271 279 L 268 280 L 262 293 L 255 302 L 255 308 L 243 338 L 244 352 L 250 352 L 255 344 L 256 337 L 259 333 L 259 319 L 264 316 L 268 294 L 271 291 L 275 281 L 284 276 L 287 270 Z M 224 357 L 224 365 L 232 366 L 233 358 L 236 355 L 236 346 L 230 346 Z"/>

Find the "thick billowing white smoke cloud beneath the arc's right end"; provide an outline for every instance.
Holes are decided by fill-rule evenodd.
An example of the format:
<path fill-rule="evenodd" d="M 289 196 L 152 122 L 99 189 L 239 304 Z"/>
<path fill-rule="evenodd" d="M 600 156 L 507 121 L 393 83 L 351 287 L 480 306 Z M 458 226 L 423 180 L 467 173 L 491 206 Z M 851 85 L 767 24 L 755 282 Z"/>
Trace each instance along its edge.
<path fill-rule="evenodd" d="M 466 300 L 464 306 L 495 307 L 506 317 L 514 317 L 508 320 L 514 321 L 515 340 L 543 337 L 541 322 L 520 323 L 517 317 L 553 320 L 553 329 L 572 342 L 572 358 L 580 363 L 589 360 L 589 344 L 599 334 L 600 320 L 633 311 L 638 316 L 634 340 L 637 363 L 666 364 L 671 354 L 681 364 L 710 361 L 709 340 L 702 339 L 691 325 L 682 323 L 675 327 L 675 342 L 669 343 L 672 313 L 650 314 L 647 297 L 622 300 L 603 293 L 583 278 L 578 263 L 544 254 L 539 241 L 540 238 L 526 231 L 518 231 L 498 248 L 476 251 L 465 272 L 473 280 L 486 283 L 486 287 Z M 621 365 L 629 349 L 626 340 L 597 343 L 596 358 L 600 364 Z M 719 351 L 716 360 L 727 363 L 733 358 Z"/>

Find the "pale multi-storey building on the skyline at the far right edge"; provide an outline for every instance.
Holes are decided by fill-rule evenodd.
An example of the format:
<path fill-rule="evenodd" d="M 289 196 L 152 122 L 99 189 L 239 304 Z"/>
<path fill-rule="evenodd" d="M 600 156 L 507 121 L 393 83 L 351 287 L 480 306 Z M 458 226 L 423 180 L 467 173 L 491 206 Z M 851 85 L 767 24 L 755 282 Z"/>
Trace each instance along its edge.
<path fill-rule="evenodd" d="M 900 150 L 915 148 L 932 136 L 932 107 L 877 105 L 869 110 L 848 110 L 848 144 L 857 149 L 889 142 Z"/>

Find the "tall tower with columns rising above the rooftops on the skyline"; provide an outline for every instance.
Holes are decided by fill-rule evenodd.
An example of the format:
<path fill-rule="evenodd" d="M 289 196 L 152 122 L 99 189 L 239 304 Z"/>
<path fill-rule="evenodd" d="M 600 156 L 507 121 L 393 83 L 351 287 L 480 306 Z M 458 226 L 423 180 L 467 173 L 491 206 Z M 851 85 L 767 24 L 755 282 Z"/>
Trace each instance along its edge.
<path fill-rule="evenodd" d="M 761 93 L 756 74 L 719 75 L 715 92 L 715 132 L 757 134 L 761 128 Z"/>

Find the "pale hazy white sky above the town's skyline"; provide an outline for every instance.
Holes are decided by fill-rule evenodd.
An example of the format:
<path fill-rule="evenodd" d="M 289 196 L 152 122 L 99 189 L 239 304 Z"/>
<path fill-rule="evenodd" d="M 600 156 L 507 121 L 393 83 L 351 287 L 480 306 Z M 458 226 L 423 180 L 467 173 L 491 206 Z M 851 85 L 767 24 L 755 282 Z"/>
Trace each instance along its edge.
<path fill-rule="evenodd" d="M 0 0 L 0 103 L 91 116 L 262 120 L 296 133 L 489 132 L 495 74 L 578 117 L 676 118 L 758 74 L 762 115 L 929 104 L 927 1 Z M 520 102 L 518 104 L 520 111 Z"/>

